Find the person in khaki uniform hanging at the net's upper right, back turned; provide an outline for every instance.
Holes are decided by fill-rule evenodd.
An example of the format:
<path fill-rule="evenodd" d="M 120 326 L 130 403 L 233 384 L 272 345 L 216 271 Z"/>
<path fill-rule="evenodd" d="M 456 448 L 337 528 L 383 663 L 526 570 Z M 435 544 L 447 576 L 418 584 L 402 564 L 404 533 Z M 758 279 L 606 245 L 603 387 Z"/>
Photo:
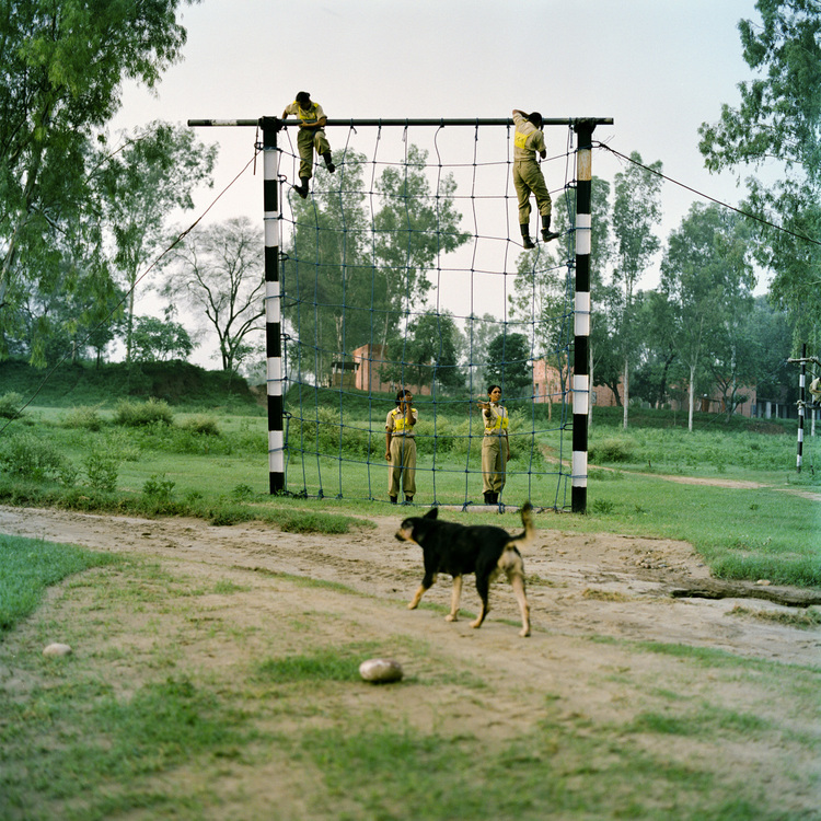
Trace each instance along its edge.
<path fill-rule="evenodd" d="M 522 244 L 534 248 L 530 239 L 530 195 L 536 198 L 536 208 L 542 215 L 542 239 L 544 242 L 555 240 L 558 234 L 551 231 L 551 193 L 544 182 L 544 174 L 536 162 L 536 151 L 544 160 L 547 149 L 542 134 L 542 115 L 539 112 L 525 114 L 513 108 L 513 187 L 519 196 L 519 226 L 522 232 Z"/>

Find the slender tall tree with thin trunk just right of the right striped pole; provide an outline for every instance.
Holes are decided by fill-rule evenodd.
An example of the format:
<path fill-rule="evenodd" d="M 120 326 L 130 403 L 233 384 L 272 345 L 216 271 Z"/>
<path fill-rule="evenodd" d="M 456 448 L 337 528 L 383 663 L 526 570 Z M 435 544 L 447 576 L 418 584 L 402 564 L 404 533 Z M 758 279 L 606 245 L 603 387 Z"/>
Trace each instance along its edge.
<path fill-rule="evenodd" d="M 613 205 L 613 278 L 621 286 L 622 299 L 617 311 L 618 324 L 615 336 L 624 365 L 622 383 L 625 429 L 629 407 L 631 358 L 636 345 L 634 292 L 639 277 L 659 248 L 660 243 L 652 229 L 661 219 L 661 162 L 657 161 L 645 169 L 641 165 L 641 155 L 637 151 L 632 152 L 629 159 L 631 164 L 627 169 L 615 175 Z"/>

